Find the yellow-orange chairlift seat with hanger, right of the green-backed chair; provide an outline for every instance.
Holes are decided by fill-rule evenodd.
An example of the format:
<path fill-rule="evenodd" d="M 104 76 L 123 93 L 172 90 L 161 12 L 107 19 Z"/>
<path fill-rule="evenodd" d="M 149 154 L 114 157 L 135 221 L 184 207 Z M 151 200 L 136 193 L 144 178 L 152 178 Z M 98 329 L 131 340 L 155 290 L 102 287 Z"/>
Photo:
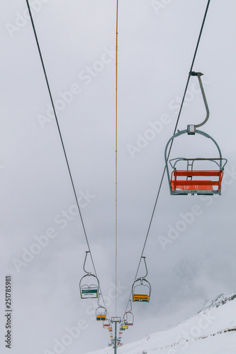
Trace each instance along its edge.
<path fill-rule="evenodd" d="M 132 298 L 133 302 L 150 302 L 151 295 L 151 285 L 145 278 L 147 277 L 147 265 L 145 261 L 145 257 L 142 256 L 145 262 L 146 275 L 145 277 L 138 278 L 135 280 L 132 286 Z M 137 292 L 138 290 L 138 292 Z M 141 291 L 140 291 L 141 290 Z"/>

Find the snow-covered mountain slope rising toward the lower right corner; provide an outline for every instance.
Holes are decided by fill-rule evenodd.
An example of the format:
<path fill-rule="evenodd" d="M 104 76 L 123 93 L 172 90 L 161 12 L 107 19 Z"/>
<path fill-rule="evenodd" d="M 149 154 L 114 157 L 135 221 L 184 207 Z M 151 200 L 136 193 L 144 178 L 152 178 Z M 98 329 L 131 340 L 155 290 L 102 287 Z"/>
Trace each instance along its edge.
<path fill-rule="evenodd" d="M 236 299 L 220 295 L 208 308 L 168 331 L 152 333 L 118 348 L 119 354 L 232 354 L 236 353 Z M 210 305 L 211 304 L 211 305 Z M 87 354 L 111 354 L 112 348 Z"/>

